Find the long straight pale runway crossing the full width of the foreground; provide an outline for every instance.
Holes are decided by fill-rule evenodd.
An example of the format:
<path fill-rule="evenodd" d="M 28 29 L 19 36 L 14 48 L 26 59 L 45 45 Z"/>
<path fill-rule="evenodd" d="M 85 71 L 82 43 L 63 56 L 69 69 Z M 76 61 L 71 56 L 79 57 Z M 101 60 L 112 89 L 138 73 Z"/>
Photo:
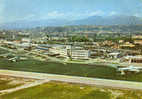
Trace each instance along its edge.
<path fill-rule="evenodd" d="M 33 72 L 23 72 L 23 71 L 11 71 L 11 70 L 0 70 L 0 75 L 9 75 L 9 76 L 16 76 L 16 77 L 24 77 L 24 78 L 34 78 L 34 79 L 40 79 L 40 80 L 47 79 L 47 80 L 53 80 L 53 81 L 81 83 L 81 84 L 87 84 L 87 85 L 98 85 L 98 86 L 106 86 L 106 87 L 114 87 L 114 88 L 142 90 L 142 83 L 141 82 L 107 80 L 107 79 L 98 79 L 98 78 L 65 76 L 65 75 L 33 73 Z"/>

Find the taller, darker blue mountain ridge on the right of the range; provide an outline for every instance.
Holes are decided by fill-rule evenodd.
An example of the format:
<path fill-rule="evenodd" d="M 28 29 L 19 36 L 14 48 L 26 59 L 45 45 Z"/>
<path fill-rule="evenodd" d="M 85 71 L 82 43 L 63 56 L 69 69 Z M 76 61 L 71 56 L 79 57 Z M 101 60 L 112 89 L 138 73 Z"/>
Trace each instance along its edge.
<path fill-rule="evenodd" d="M 136 16 L 92 16 L 87 19 L 76 20 L 72 25 L 136 25 L 142 24 L 142 18 Z"/>

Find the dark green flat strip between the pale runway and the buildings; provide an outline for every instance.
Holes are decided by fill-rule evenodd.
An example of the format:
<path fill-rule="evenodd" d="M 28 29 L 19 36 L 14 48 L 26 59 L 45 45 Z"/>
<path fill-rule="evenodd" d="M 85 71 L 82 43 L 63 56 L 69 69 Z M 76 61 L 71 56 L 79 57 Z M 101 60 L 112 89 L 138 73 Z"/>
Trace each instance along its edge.
<path fill-rule="evenodd" d="M 83 65 L 83 64 L 62 64 L 55 62 L 44 62 L 29 59 L 26 61 L 10 62 L 0 59 L 0 69 L 30 71 L 40 73 L 52 73 L 61 75 L 73 75 L 83 77 L 96 77 L 105 79 L 142 81 L 142 73 L 120 75 L 116 69 L 105 66 Z"/>

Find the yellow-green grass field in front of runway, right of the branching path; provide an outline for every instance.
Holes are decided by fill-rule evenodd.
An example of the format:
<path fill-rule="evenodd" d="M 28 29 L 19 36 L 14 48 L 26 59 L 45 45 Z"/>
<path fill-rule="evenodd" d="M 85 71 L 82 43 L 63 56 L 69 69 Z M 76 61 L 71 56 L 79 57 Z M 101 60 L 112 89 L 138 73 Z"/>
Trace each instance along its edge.
<path fill-rule="evenodd" d="M 142 92 L 49 82 L 5 94 L 0 99 L 142 99 Z"/>

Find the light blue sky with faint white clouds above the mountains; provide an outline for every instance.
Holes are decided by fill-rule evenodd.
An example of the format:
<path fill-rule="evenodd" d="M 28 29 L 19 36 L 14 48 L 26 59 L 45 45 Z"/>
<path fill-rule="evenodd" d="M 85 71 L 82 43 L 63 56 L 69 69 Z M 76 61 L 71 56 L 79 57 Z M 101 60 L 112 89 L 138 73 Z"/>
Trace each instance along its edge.
<path fill-rule="evenodd" d="M 89 16 L 142 16 L 142 0 L 0 0 L 0 23 Z"/>

